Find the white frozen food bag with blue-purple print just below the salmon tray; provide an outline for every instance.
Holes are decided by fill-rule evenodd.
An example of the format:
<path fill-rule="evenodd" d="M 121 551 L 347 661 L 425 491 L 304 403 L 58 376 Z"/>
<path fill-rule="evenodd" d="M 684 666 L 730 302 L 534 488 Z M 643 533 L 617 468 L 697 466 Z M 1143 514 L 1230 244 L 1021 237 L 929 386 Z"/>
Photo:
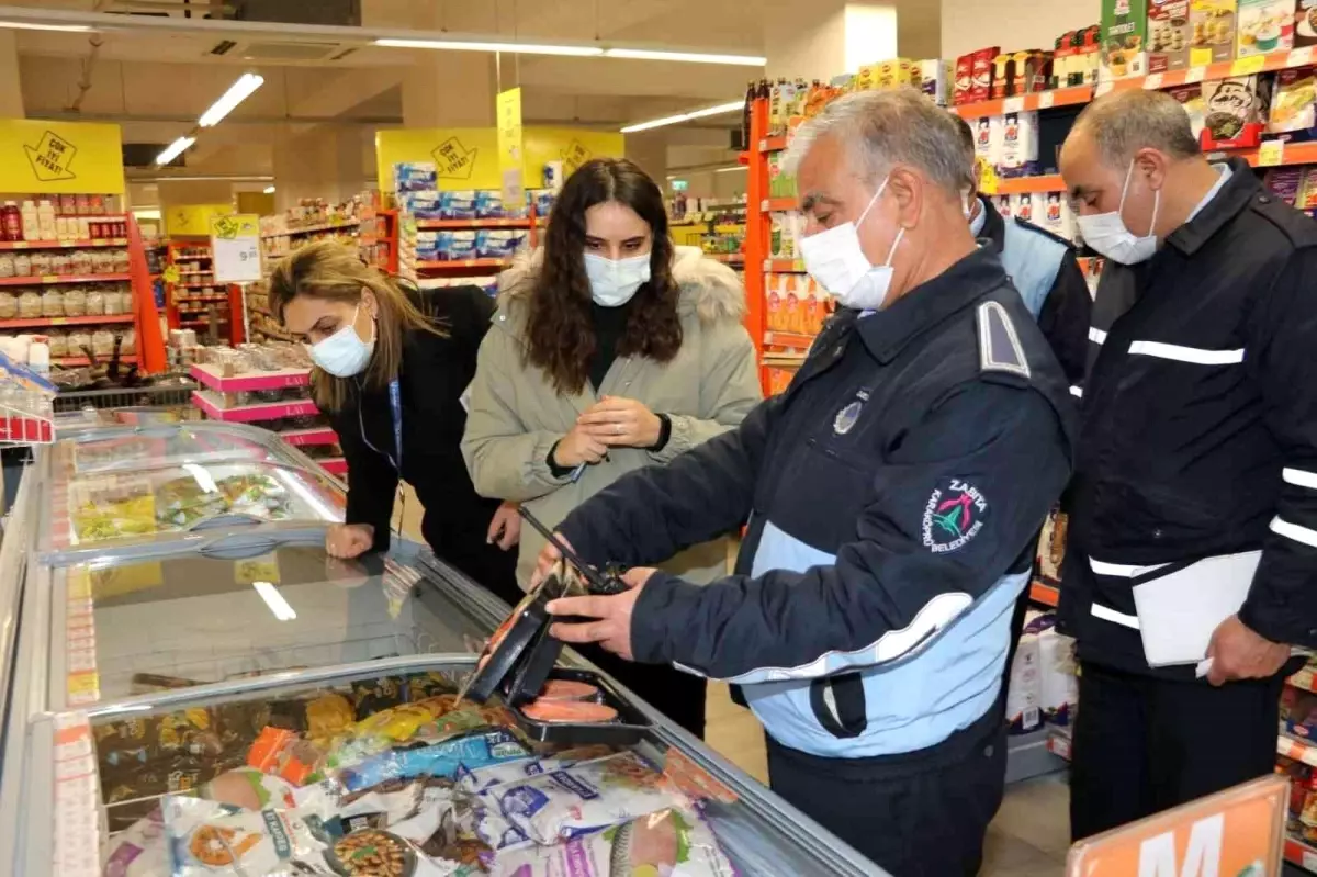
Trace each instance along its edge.
<path fill-rule="evenodd" d="M 586 761 L 486 793 L 522 834 L 540 844 L 687 806 L 686 797 L 635 752 Z"/>

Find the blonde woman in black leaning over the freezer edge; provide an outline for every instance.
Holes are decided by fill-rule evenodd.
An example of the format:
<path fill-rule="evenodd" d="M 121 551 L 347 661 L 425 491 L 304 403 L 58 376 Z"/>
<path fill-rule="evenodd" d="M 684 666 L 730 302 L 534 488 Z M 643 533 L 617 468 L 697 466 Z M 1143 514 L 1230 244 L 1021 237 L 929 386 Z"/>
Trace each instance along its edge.
<path fill-rule="evenodd" d="M 435 553 L 515 602 L 519 519 L 475 494 L 460 441 L 460 396 L 494 313 L 474 286 L 400 287 L 341 244 L 304 246 L 270 278 L 270 312 L 306 341 L 312 395 L 329 415 L 348 461 L 345 523 L 325 549 L 357 557 L 389 548 L 399 481 L 425 507 L 421 535 Z"/>

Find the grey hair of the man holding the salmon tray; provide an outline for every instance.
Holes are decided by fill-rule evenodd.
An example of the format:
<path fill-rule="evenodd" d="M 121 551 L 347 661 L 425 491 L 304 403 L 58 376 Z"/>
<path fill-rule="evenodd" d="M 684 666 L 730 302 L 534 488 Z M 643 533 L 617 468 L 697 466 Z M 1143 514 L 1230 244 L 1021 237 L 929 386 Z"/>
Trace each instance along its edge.
<path fill-rule="evenodd" d="M 885 176 L 893 165 L 910 165 L 950 195 L 973 184 L 973 147 L 947 111 L 909 86 L 859 91 L 839 97 L 801 125 L 784 159 L 795 174 L 820 137 L 836 137 L 867 179 Z"/>

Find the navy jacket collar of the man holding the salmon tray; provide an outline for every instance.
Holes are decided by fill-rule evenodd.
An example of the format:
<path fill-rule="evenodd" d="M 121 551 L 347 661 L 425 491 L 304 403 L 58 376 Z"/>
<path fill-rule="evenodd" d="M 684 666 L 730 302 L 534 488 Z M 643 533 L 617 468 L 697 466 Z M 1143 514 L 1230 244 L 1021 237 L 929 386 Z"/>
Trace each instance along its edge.
<path fill-rule="evenodd" d="M 980 248 L 882 311 L 856 321 L 856 332 L 878 362 L 890 362 L 922 332 L 973 304 L 1005 279 L 997 254 Z"/>

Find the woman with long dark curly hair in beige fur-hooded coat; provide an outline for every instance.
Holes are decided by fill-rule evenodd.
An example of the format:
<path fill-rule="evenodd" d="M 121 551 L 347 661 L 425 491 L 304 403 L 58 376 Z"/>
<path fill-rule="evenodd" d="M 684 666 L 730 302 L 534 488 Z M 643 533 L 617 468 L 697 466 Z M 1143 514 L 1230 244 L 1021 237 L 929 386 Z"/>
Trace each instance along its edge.
<path fill-rule="evenodd" d="M 572 174 L 543 249 L 499 286 L 462 453 L 477 491 L 524 503 L 548 527 L 624 473 L 732 429 L 760 400 L 740 280 L 698 249 L 673 246 L 662 192 L 628 161 L 595 159 Z M 523 587 L 543 545 L 522 532 Z M 726 541 L 697 545 L 664 569 L 686 581 L 720 578 Z M 703 679 L 586 653 L 703 733 Z"/>

